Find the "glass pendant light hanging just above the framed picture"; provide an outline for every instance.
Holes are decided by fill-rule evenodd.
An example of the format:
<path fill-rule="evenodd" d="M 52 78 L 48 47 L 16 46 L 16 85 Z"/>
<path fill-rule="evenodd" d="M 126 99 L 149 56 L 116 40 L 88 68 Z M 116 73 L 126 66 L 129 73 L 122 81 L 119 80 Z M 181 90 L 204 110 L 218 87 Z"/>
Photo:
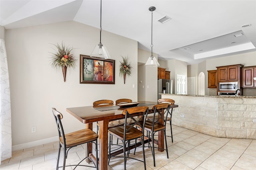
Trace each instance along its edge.
<path fill-rule="evenodd" d="M 110 55 L 108 53 L 108 50 L 106 47 L 101 43 L 101 4 L 102 0 L 100 0 L 100 43 L 98 43 L 94 50 L 92 51 L 92 54 L 90 55 L 93 59 L 110 59 Z"/>

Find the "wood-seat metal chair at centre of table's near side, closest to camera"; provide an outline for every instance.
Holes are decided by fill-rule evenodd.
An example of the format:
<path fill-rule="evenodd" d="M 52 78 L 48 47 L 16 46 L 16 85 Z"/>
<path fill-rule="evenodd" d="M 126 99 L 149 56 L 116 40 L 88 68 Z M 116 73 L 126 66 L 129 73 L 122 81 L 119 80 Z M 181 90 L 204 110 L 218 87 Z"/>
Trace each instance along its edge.
<path fill-rule="evenodd" d="M 144 162 L 144 169 L 146 169 L 146 161 L 145 161 L 145 151 L 144 151 L 144 124 L 146 119 L 144 119 L 144 116 L 148 113 L 148 107 L 147 106 L 137 106 L 137 107 L 130 107 L 128 109 L 124 109 L 123 110 L 123 115 L 125 115 L 125 122 L 123 126 L 119 126 L 119 127 L 114 127 L 114 128 L 110 128 L 108 129 L 108 132 L 110 133 L 110 135 L 113 135 L 115 137 L 117 137 L 118 139 L 120 139 L 123 143 L 123 158 L 124 158 L 124 170 L 126 170 L 126 160 L 127 158 L 131 158 L 131 159 L 135 159 L 138 160 L 136 158 L 132 158 L 129 157 L 129 149 L 126 149 L 126 146 L 130 146 L 130 141 L 134 140 L 134 139 L 138 139 L 140 138 L 141 142 L 142 142 L 142 153 L 143 153 L 143 161 L 142 160 L 138 160 L 141 162 Z M 138 116 L 141 115 L 141 118 L 139 121 L 137 121 L 136 119 L 134 119 L 134 116 Z M 128 124 L 127 123 L 127 119 L 133 119 L 134 123 L 133 124 Z M 137 129 L 134 126 L 138 126 L 142 129 L 142 131 L 140 131 L 139 129 Z M 110 140 L 110 138 L 109 138 Z M 115 157 L 115 156 L 111 156 L 111 148 L 109 147 L 109 157 L 108 157 L 108 164 L 110 162 L 110 158 L 111 157 Z"/>

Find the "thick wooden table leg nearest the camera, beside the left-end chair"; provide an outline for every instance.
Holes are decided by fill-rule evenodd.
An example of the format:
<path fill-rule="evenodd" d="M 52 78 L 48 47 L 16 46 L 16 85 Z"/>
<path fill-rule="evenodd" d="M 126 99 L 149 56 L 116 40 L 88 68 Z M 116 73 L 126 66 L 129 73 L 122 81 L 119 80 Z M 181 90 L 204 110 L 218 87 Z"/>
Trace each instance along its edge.
<path fill-rule="evenodd" d="M 99 121 L 99 170 L 108 169 L 108 120 Z"/>

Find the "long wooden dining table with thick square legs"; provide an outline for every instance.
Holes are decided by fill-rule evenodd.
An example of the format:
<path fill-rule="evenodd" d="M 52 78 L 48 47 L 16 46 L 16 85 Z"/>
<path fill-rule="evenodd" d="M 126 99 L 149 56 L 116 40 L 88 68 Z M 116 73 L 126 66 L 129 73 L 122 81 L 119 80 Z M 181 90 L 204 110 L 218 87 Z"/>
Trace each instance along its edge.
<path fill-rule="evenodd" d="M 142 101 L 138 102 L 138 106 L 148 106 L 149 113 L 153 113 L 152 107 L 157 102 L 148 102 Z M 178 105 L 171 105 L 171 108 L 178 107 Z M 66 111 L 73 115 L 76 119 L 81 121 L 82 123 L 86 124 L 85 128 L 92 129 L 92 123 L 98 122 L 99 125 L 99 160 L 96 161 L 96 157 L 92 154 L 92 144 L 88 146 L 89 157 L 94 161 L 94 163 L 98 162 L 99 169 L 104 170 L 108 167 L 108 122 L 124 119 L 124 115 L 122 111 L 127 107 L 120 107 L 115 104 L 107 104 L 107 105 L 100 105 L 100 106 L 84 106 L 84 107 L 71 107 L 67 108 Z M 164 113 L 164 111 L 162 111 Z M 159 119 L 160 119 L 160 115 Z M 164 121 L 160 119 L 160 123 L 164 124 Z M 158 150 L 164 151 L 164 133 L 163 131 L 158 132 Z"/>

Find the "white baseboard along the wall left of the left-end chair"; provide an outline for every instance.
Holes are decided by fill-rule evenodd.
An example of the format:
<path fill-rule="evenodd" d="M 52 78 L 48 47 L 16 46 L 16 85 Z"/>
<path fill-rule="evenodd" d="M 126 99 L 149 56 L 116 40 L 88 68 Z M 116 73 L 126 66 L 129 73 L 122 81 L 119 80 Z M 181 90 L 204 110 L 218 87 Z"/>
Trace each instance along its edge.
<path fill-rule="evenodd" d="M 29 142 L 29 143 L 23 143 L 20 145 L 13 145 L 12 151 L 36 147 L 39 145 L 44 145 L 46 143 L 51 143 L 51 142 L 56 142 L 56 141 L 58 141 L 58 136 L 50 137 L 50 138 L 42 139 L 42 140 L 38 140 L 38 141 L 33 141 L 33 142 Z"/>

